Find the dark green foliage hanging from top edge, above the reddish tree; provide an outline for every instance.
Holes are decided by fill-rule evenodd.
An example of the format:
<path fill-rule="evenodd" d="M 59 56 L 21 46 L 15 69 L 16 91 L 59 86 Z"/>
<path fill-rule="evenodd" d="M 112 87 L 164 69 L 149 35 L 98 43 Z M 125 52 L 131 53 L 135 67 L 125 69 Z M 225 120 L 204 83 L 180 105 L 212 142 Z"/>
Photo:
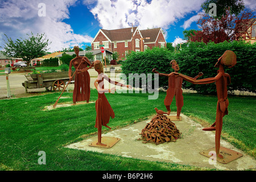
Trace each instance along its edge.
<path fill-rule="evenodd" d="M 205 1 L 201 7 L 205 10 L 205 13 L 209 14 L 209 10 L 212 9 L 210 3 L 216 4 L 216 17 L 217 19 L 221 19 L 222 16 L 226 15 L 226 10 L 230 9 L 230 14 L 238 15 L 245 8 L 245 3 L 243 0 L 207 0 Z"/>

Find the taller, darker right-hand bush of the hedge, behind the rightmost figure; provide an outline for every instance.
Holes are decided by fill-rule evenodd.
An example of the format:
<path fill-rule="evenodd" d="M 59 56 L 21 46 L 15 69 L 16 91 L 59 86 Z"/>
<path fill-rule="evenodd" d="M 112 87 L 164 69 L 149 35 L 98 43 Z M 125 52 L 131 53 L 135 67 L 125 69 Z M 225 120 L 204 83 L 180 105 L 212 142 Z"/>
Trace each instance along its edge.
<path fill-rule="evenodd" d="M 191 42 L 179 53 L 174 53 L 173 58 L 180 66 L 180 73 L 191 77 L 203 72 L 202 78 L 215 77 L 218 68 L 214 68 L 218 58 L 226 51 L 231 50 L 237 55 L 237 64 L 233 68 L 224 67 L 225 73 L 229 73 L 231 84 L 228 90 L 249 91 L 256 93 L 256 43 L 250 44 L 243 41 L 213 42 L 205 44 L 202 42 Z M 196 90 L 203 94 L 216 94 L 216 85 L 193 85 L 183 81 L 183 88 Z"/>

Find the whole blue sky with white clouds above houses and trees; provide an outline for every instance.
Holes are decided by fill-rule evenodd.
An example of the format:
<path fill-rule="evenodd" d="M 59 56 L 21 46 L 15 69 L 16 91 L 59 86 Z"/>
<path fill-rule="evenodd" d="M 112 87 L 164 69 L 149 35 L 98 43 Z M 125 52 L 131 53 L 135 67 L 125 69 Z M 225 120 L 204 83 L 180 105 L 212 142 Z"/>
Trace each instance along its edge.
<path fill-rule="evenodd" d="M 0 0 L 0 46 L 5 34 L 28 38 L 45 34 L 49 52 L 90 46 L 102 29 L 160 27 L 169 43 L 182 43 L 183 31 L 195 29 L 204 0 Z M 244 0 L 256 9 L 254 0 Z M 27 35 L 28 34 L 28 35 Z M 1 50 L 2 48 L 0 48 Z"/>

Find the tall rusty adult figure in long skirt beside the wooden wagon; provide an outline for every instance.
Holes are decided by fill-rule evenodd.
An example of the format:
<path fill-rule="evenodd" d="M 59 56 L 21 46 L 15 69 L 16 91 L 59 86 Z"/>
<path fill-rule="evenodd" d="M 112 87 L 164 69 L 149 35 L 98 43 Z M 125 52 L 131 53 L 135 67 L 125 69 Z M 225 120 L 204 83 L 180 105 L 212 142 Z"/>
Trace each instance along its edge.
<path fill-rule="evenodd" d="M 93 65 L 87 57 L 79 56 L 79 47 L 75 46 L 74 51 L 76 57 L 69 63 L 68 76 L 72 80 L 72 65 L 77 70 L 75 75 L 75 87 L 73 90 L 73 104 L 79 101 L 89 102 L 90 100 L 90 75 L 88 69 L 92 68 Z M 81 64 L 80 64 L 81 63 Z M 88 67 L 89 66 L 89 67 Z"/>

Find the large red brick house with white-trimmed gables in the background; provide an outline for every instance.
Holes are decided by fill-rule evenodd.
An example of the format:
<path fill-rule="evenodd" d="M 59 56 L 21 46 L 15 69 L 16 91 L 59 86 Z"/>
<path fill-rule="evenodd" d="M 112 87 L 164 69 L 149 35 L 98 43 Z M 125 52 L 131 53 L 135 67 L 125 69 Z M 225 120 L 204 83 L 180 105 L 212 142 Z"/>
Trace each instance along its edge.
<path fill-rule="evenodd" d="M 125 58 L 129 51 L 144 51 L 146 48 L 166 47 L 166 39 L 162 28 L 147 30 L 139 30 L 138 27 L 116 30 L 100 29 L 92 41 L 92 50 L 100 50 L 102 45 L 110 52 L 118 52 L 120 60 Z"/>

